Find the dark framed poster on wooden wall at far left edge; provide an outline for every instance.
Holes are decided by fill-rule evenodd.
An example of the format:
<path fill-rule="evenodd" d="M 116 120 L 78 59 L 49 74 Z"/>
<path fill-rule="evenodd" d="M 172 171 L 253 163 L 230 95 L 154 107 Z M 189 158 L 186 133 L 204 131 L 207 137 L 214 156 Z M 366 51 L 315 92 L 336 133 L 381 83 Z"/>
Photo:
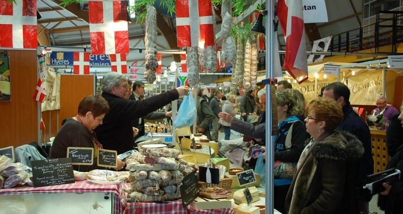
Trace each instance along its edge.
<path fill-rule="evenodd" d="M 0 101 L 11 100 L 10 66 L 8 62 L 8 53 L 0 53 Z"/>

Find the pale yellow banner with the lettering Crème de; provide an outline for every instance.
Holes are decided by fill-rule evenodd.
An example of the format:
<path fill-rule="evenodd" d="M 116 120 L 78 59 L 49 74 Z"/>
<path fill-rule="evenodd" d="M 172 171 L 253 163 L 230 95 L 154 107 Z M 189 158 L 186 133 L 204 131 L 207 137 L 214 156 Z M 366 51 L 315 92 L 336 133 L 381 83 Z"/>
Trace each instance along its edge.
<path fill-rule="evenodd" d="M 376 97 L 383 95 L 382 85 L 382 71 L 349 78 L 351 105 L 375 105 Z"/>

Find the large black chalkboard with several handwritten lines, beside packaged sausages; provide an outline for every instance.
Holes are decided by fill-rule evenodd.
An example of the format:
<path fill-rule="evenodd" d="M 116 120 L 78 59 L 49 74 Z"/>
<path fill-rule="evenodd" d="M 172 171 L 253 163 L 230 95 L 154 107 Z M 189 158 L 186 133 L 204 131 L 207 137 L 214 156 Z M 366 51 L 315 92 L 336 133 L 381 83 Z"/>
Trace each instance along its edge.
<path fill-rule="evenodd" d="M 73 184 L 74 174 L 71 158 L 32 160 L 34 187 Z"/>

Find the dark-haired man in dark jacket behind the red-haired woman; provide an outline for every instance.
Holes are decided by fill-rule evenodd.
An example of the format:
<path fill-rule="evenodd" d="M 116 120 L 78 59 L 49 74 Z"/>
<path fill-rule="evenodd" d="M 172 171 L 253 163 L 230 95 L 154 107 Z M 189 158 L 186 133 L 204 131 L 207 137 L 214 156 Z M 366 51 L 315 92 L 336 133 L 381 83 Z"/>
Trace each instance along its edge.
<path fill-rule="evenodd" d="M 347 131 L 354 134 L 364 147 L 364 155 L 358 159 L 357 164 L 350 167 L 356 168 L 355 187 L 357 208 L 360 212 L 368 213 L 369 202 L 372 194 L 368 189 L 364 189 L 367 175 L 374 173 L 374 160 L 371 151 L 371 133 L 365 121 L 350 106 L 350 90 L 342 82 L 333 82 L 323 89 L 323 97 L 336 100 L 343 110 L 343 121 L 337 130 Z"/>

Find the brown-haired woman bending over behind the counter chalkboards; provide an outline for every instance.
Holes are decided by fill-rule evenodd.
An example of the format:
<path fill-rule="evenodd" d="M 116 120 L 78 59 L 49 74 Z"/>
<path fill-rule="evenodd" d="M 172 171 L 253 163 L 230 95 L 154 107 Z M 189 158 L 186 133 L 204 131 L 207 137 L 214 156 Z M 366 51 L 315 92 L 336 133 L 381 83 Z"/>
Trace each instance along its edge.
<path fill-rule="evenodd" d="M 108 102 L 99 95 L 87 96 L 81 100 L 78 106 L 78 114 L 67 119 L 53 141 L 50 158 L 66 158 L 67 147 L 94 148 L 94 161 L 92 165 L 80 166 L 80 171 L 90 171 L 100 168 L 97 166 L 98 149 L 102 144 L 97 140 L 93 129 L 102 124 L 105 114 L 108 113 Z M 115 170 L 120 170 L 124 162 L 117 161 Z M 73 165 L 78 170 L 78 165 Z"/>

